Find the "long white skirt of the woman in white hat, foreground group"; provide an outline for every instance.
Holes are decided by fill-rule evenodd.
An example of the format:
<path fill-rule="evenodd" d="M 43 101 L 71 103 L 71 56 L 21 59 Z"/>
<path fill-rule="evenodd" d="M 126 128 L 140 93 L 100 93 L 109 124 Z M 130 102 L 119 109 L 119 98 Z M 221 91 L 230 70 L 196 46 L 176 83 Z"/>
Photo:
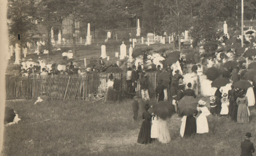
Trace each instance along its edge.
<path fill-rule="evenodd" d="M 202 134 L 202 133 L 208 133 L 209 127 L 207 118 L 205 115 L 201 114 L 196 119 L 196 133 Z"/>

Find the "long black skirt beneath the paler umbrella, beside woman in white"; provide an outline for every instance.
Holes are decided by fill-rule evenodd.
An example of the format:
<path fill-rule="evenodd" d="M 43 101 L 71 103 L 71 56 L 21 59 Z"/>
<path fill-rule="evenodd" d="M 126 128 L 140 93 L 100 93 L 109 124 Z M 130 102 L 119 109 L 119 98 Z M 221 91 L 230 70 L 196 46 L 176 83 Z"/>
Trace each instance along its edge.
<path fill-rule="evenodd" d="M 189 137 L 196 134 L 196 121 L 194 116 L 187 116 L 184 137 Z"/>

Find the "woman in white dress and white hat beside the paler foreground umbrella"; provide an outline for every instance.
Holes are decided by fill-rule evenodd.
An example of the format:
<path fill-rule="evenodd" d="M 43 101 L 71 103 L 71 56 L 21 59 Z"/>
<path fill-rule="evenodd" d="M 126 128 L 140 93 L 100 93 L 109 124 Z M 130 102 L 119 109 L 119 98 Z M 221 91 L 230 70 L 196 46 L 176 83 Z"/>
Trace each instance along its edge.
<path fill-rule="evenodd" d="M 209 127 L 208 127 L 208 121 L 206 116 L 210 115 L 210 111 L 205 106 L 206 102 L 203 100 L 199 100 L 199 107 L 197 107 L 197 111 L 201 112 L 201 114 L 196 119 L 196 133 L 202 134 L 202 133 L 208 133 Z"/>

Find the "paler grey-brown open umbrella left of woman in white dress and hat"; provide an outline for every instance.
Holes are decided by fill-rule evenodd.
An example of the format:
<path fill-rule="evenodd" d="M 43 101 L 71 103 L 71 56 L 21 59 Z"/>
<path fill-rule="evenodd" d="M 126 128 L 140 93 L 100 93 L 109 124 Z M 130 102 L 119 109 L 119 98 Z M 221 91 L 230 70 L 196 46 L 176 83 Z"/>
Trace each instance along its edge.
<path fill-rule="evenodd" d="M 196 113 L 197 102 L 198 101 L 193 96 L 184 96 L 180 99 L 178 105 L 179 116 L 189 116 Z"/>

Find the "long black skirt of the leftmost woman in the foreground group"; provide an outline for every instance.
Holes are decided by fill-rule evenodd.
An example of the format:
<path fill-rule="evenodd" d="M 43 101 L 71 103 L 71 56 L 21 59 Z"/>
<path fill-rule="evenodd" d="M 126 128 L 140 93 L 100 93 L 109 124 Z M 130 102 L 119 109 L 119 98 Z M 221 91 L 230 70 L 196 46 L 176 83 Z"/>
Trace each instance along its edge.
<path fill-rule="evenodd" d="M 144 120 L 142 123 L 141 131 L 139 131 L 139 134 L 138 134 L 137 142 L 139 144 L 150 144 L 151 143 L 150 133 L 151 133 L 151 123 L 148 120 Z"/>

